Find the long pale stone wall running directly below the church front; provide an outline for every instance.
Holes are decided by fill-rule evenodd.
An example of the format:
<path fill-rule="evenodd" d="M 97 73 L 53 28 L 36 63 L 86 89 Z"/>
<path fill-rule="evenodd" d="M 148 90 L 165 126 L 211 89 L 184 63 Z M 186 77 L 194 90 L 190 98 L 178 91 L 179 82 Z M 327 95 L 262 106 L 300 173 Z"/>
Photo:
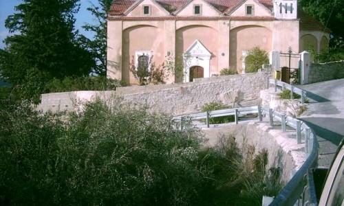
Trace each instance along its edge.
<path fill-rule="evenodd" d="M 119 91 L 73 91 L 43 94 L 37 109 L 42 111 L 73 111 L 79 102 L 92 101 L 98 96 L 109 100 L 118 96 L 122 102 L 146 106 L 149 111 L 191 113 L 200 111 L 209 102 L 221 101 L 232 105 L 259 99 L 259 91 L 266 87 L 264 73 L 207 78 L 186 84 L 162 84 L 122 88 Z M 255 103 L 256 104 L 256 103 Z"/>

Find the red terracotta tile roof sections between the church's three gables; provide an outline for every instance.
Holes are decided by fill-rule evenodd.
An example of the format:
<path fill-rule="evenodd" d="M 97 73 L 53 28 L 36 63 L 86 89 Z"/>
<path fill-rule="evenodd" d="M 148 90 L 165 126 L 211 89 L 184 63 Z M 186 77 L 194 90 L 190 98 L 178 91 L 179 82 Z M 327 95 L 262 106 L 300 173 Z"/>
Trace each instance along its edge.
<path fill-rule="evenodd" d="M 159 3 L 165 10 L 170 13 L 175 12 L 179 8 L 182 8 L 186 3 L 189 3 L 191 0 L 153 0 L 156 3 Z M 214 8 L 219 10 L 219 12 L 225 13 L 226 11 L 233 8 L 235 5 L 240 3 L 242 0 L 204 0 L 209 4 L 213 5 Z M 272 10 L 272 0 L 257 0 L 259 3 L 263 4 L 269 10 Z M 125 10 L 127 10 L 135 0 L 115 0 L 111 5 L 109 10 L 110 15 L 122 15 Z"/>

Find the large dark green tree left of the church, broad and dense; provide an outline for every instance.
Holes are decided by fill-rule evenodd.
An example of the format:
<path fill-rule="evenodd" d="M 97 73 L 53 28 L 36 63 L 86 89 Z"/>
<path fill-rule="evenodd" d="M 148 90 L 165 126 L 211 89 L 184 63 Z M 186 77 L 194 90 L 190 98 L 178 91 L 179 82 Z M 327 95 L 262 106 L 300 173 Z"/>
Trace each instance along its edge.
<path fill-rule="evenodd" d="M 14 89 L 29 89 L 25 86 L 29 80 L 44 86 L 52 78 L 90 73 L 94 60 L 74 30 L 78 1 L 23 0 L 15 7 L 19 12 L 8 16 L 6 27 L 19 34 L 8 36 L 6 48 L 0 50 L 0 76 L 11 82 Z M 43 82 L 32 79 L 32 71 Z M 25 92 L 30 95 L 22 93 L 22 98 L 32 99 L 32 93 L 45 92 L 45 87 L 32 86 L 32 91 Z"/>

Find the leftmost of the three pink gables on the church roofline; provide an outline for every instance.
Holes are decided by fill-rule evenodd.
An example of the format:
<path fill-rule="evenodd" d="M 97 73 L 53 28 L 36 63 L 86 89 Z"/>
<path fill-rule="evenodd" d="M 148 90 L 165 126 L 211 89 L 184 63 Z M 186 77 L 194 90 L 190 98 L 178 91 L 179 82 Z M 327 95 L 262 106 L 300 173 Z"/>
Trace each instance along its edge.
<path fill-rule="evenodd" d="M 149 9 L 149 14 L 144 14 L 144 9 Z M 147 10 L 146 10 L 147 11 Z M 152 0 L 137 1 L 125 12 L 127 16 L 166 16 L 169 15 L 164 8 Z"/>

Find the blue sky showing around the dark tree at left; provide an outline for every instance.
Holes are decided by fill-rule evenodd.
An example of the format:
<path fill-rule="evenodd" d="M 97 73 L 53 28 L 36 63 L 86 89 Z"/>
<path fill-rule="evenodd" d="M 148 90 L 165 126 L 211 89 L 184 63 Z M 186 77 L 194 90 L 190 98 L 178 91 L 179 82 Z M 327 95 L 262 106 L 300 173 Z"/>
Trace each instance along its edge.
<path fill-rule="evenodd" d="M 21 0 L 0 0 L 0 49 L 5 47 L 3 40 L 6 38 L 6 36 L 10 35 L 5 27 L 5 20 L 9 15 L 16 12 L 14 10 L 14 6 L 19 5 L 20 3 Z M 76 29 L 88 38 L 92 38 L 93 34 L 91 32 L 86 32 L 81 26 L 85 25 L 85 23 L 96 23 L 91 12 L 87 11 L 87 8 L 90 7 L 91 3 L 98 5 L 97 0 L 80 0 L 80 10 L 78 14 L 75 15 Z"/>

